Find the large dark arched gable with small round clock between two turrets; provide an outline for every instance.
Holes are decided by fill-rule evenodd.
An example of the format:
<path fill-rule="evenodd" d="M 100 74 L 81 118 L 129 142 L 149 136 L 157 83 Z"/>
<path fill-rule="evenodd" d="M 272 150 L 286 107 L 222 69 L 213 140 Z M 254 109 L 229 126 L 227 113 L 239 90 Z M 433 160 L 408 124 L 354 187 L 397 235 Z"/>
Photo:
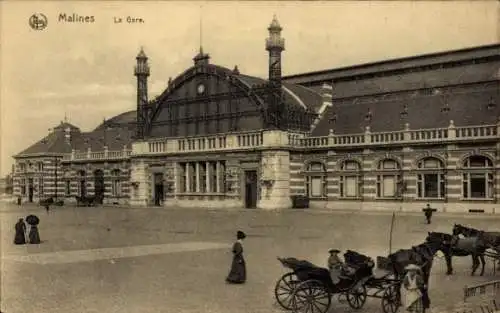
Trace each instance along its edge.
<path fill-rule="evenodd" d="M 176 137 L 263 128 L 267 108 L 254 88 L 228 69 L 191 67 L 154 100 L 148 133 Z"/>

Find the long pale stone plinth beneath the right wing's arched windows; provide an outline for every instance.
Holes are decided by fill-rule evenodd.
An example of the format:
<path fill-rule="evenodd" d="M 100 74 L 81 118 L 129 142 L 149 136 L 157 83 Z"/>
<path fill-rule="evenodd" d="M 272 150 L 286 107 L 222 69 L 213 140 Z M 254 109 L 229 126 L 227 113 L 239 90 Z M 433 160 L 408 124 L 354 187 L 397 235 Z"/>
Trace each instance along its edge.
<path fill-rule="evenodd" d="M 468 214 L 500 214 L 500 203 L 432 203 L 437 212 Z M 386 211 L 386 212 L 422 212 L 425 202 L 390 202 L 390 201 L 310 201 L 311 209 L 348 210 L 348 211 Z M 480 210 L 483 212 L 474 212 Z"/>

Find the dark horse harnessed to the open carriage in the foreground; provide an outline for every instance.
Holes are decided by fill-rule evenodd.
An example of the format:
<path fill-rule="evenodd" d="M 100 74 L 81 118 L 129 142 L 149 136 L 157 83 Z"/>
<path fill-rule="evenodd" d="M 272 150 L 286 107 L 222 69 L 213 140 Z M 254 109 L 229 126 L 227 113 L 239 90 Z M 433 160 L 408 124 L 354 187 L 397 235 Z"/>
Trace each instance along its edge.
<path fill-rule="evenodd" d="M 418 265 L 422 269 L 425 287 L 421 292 L 423 294 L 422 300 L 425 309 L 430 307 L 430 299 L 427 291 L 432 262 L 434 261 L 434 255 L 440 250 L 442 244 L 441 240 L 431 238 L 431 240 L 421 243 L 418 246 L 411 247 L 410 249 L 400 249 L 388 256 L 389 265 L 392 267 L 394 276 L 398 280 L 403 280 L 405 267 L 409 264 Z M 399 294 L 399 288 L 397 288 L 397 292 Z"/>

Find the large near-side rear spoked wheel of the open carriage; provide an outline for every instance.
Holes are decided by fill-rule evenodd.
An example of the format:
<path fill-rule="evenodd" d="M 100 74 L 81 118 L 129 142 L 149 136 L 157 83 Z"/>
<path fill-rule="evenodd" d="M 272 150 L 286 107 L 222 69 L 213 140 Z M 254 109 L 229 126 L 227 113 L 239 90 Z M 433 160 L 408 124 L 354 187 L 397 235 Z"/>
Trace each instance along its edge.
<path fill-rule="evenodd" d="M 326 313 L 331 302 L 326 286 L 317 280 L 308 280 L 297 285 L 291 304 L 294 313 Z"/>

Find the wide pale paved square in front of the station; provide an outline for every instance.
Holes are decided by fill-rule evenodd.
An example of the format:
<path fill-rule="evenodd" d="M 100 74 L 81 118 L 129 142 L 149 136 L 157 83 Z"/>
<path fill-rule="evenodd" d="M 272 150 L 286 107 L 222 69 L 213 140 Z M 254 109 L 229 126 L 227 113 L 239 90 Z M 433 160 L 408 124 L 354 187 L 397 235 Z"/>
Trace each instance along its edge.
<path fill-rule="evenodd" d="M 40 216 L 42 244 L 15 246 L 14 224 Z M 325 265 L 328 249 L 353 249 L 386 256 L 391 215 L 386 213 L 283 213 L 257 210 L 130 209 L 1 204 L 2 298 L 6 313 L 67 312 L 283 312 L 274 300 L 285 269 L 277 256 Z M 450 232 L 454 222 L 499 229 L 498 217 L 436 216 L 432 225 L 417 215 L 398 215 L 393 248 L 421 243 L 427 231 Z M 237 229 L 244 242 L 248 282 L 226 285 L 230 246 Z M 494 279 L 470 277 L 470 257 L 455 258 L 456 274 L 444 275 L 436 259 L 430 283 L 434 306 L 460 301 L 466 284 Z M 333 302 L 331 312 L 348 312 Z M 360 312 L 381 312 L 368 299 Z"/>

